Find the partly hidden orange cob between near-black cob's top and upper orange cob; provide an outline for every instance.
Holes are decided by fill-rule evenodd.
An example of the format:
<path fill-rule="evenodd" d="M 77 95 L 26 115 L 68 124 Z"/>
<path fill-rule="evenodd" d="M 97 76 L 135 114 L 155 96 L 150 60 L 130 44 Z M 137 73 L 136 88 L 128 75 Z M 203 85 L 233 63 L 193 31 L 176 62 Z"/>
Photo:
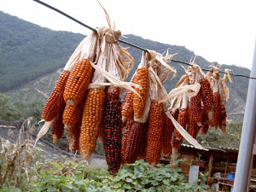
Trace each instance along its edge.
<path fill-rule="evenodd" d="M 133 114 L 133 93 L 131 90 L 126 90 L 124 101 L 122 102 L 122 120 L 131 118 Z"/>

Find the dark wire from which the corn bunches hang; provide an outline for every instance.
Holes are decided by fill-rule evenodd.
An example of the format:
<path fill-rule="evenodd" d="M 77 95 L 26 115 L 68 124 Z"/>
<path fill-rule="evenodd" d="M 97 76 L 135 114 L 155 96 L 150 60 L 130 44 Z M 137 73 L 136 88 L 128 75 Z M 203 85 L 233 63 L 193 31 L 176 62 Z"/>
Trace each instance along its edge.
<path fill-rule="evenodd" d="M 47 3 L 44 3 L 44 2 L 42 2 L 42 1 L 39 1 L 39 0 L 33 0 L 33 1 L 42 4 L 42 5 L 44 5 L 45 7 L 49 8 L 49 9 L 52 9 L 52 10 L 58 12 L 58 13 L 61 14 L 61 15 L 66 16 L 68 19 L 73 20 L 73 21 L 79 23 L 79 25 L 84 26 L 84 27 L 86 27 L 86 28 L 92 30 L 93 32 L 97 32 L 95 28 L 84 24 L 83 22 L 81 22 L 81 21 L 79 21 L 79 20 L 73 18 L 73 17 L 70 16 L 70 15 L 67 15 L 66 13 L 64 13 L 63 11 L 61 11 L 60 9 L 56 9 L 56 8 L 52 7 L 51 5 L 49 5 L 49 4 L 47 4 Z M 120 43 L 123 43 L 123 44 L 130 45 L 131 47 L 134 47 L 134 48 L 137 48 L 137 49 L 141 49 L 141 50 L 143 50 L 143 51 L 147 51 L 147 52 L 148 52 L 147 49 L 145 49 L 145 48 L 143 48 L 143 47 L 140 47 L 140 46 L 138 46 L 137 44 L 131 44 L 131 43 L 126 42 L 126 41 L 124 41 L 124 40 L 122 40 L 122 39 L 119 39 L 119 42 L 120 42 Z M 172 59 L 172 61 L 173 61 L 173 62 L 177 62 L 177 63 L 184 64 L 184 65 L 187 65 L 187 66 L 192 66 L 192 64 L 190 64 L 189 62 L 178 61 L 178 60 L 173 60 L 173 59 Z M 211 71 L 211 70 L 205 69 L 205 68 L 201 68 L 201 70 L 207 71 L 207 72 Z M 224 72 L 219 71 L 219 73 L 224 73 Z M 256 79 L 256 78 L 253 78 L 253 77 L 249 77 L 249 76 L 247 76 L 247 75 L 241 75 L 241 74 L 232 74 L 232 75 L 235 76 L 235 77 L 243 77 L 243 78 L 247 78 L 247 79 Z"/>

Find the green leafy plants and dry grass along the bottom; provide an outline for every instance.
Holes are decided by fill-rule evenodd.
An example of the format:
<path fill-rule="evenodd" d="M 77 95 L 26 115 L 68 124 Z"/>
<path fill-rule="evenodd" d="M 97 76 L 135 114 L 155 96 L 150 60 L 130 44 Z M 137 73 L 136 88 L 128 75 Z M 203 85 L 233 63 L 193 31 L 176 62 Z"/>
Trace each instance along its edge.
<path fill-rule="evenodd" d="M 21 141 L 22 134 L 14 144 L 0 137 L 0 191 L 201 192 L 208 188 L 207 174 L 198 179 L 199 185 L 191 185 L 180 168 L 151 167 L 143 160 L 122 166 L 115 177 L 106 167 L 87 166 L 84 160 L 45 160 L 39 146 L 32 147 L 32 137 Z"/>

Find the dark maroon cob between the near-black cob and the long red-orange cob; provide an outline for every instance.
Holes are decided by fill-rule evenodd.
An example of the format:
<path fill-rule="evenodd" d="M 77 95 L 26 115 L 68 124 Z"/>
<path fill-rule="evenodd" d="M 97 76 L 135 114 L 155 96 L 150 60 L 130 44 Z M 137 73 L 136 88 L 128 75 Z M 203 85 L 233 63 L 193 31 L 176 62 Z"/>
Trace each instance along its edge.
<path fill-rule="evenodd" d="M 139 146 L 142 143 L 142 135 L 144 133 L 143 123 L 133 122 L 129 136 L 126 141 L 124 162 L 132 164 L 137 160 L 139 154 Z"/>

